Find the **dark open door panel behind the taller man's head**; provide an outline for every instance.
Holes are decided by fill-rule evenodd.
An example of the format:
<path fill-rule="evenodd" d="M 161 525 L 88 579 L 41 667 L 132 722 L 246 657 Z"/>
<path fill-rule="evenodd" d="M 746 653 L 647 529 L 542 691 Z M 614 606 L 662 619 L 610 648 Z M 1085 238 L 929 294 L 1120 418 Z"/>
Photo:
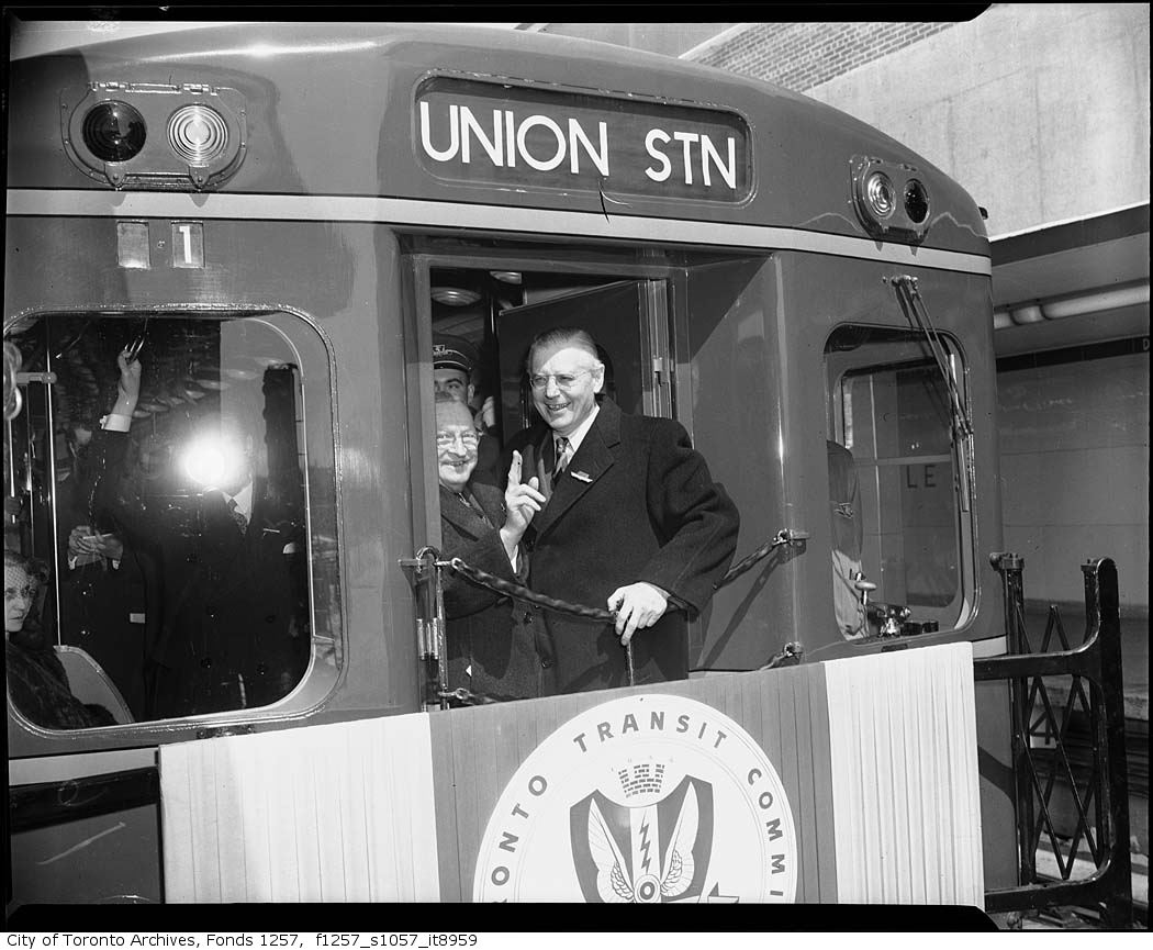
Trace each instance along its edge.
<path fill-rule="evenodd" d="M 500 404 L 507 438 L 536 421 L 525 360 L 537 333 L 576 326 L 596 340 L 604 363 L 604 392 L 623 412 L 666 415 L 655 362 L 663 327 L 664 285 L 654 280 L 621 280 L 606 287 L 552 296 L 502 311 L 497 319 L 500 359 Z"/>

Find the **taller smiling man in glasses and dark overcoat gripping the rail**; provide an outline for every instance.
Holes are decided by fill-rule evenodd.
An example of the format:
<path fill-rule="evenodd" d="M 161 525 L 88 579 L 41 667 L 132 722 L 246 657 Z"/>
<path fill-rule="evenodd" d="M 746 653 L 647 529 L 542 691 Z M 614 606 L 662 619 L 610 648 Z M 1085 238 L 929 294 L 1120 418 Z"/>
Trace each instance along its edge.
<path fill-rule="evenodd" d="M 549 499 L 525 536 L 529 585 L 617 611 L 615 626 L 547 612 L 542 663 L 555 664 L 562 693 L 624 686 L 631 642 L 635 683 L 684 679 L 688 642 L 675 613 L 711 598 L 737 546 L 736 506 L 678 422 L 598 401 L 604 363 L 585 331 L 540 334 L 528 372 L 543 422 L 508 447 Z"/>

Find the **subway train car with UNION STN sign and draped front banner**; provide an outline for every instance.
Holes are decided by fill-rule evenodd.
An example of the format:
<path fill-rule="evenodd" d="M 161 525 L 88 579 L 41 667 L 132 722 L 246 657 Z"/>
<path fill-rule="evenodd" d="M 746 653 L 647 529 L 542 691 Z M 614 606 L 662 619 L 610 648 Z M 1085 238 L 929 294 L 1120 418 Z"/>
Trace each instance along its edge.
<path fill-rule="evenodd" d="M 8 123 L 9 907 L 1018 883 L 1010 686 L 973 674 L 1007 650 L 989 246 L 956 182 L 802 96 L 480 27 L 17 54 Z M 438 340 L 499 448 L 557 326 L 687 430 L 739 540 L 678 615 L 686 679 L 485 702 L 444 677 L 446 574 L 492 581 L 439 555 Z M 259 567 L 219 557 L 224 421 Z M 540 610 L 574 608 L 605 604 Z M 53 722 L 14 649 L 96 718 Z"/>

